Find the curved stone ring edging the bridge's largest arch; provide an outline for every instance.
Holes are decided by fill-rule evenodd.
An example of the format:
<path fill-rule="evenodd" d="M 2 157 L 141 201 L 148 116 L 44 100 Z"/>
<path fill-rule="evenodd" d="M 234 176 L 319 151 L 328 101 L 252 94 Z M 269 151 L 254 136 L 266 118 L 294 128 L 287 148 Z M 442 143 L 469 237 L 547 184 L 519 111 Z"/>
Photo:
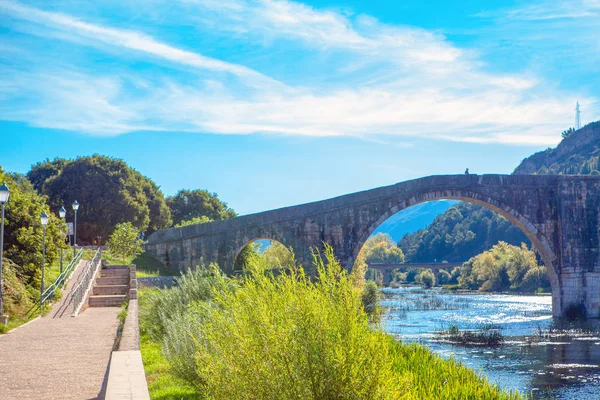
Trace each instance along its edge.
<path fill-rule="evenodd" d="M 479 193 L 466 190 L 443 190 L 443 191 L 430 191 L 423 193 L 416 193 L 406 199 L 400 199 L 397 205 L 390 207 L 385 211 L 375 222 L 366 226 L 364 231 L 359 234 L 359 239 L 352 252 L 352 258 L 347 260 L 345 265 L 348 270 L 351 270 L 356 261 L 358 253 L 363 248 L 367 239 L 373 234 L 373 232 L 383 222 L 394 214 L 406 210 L 412 206 L 420 203 L 425 203 L 434 200 L 460 200 L 469 203 L 474 203 L 483 207 L 486 207 L 506 218 L 513 225 L 518 227 L 529 239 L 534 249 L 540 254 L 540 257 L 544 261 L 544 265 L 548 270 L 548 277 L 552 287 L 552 308 L 553 310 L 561 309 L 560 304 L 560 283 L 559 283 L 559 271 L 557 269 L 557 257 L 550 242 L 546 236 L 540 232 L 535 225 L 529 221 L 525 216 L 517 212 L 514 208 L 503 204 L 502 202 L 495 200 L 489 196 L 483 196 Z"/>

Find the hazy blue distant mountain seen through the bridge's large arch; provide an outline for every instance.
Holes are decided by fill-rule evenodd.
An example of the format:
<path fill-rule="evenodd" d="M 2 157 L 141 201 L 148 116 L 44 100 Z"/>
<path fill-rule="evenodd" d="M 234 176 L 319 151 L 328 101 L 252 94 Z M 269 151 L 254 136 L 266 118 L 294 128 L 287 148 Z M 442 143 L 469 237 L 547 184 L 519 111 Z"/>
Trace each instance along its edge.
<path fill-rule="evenodd" d="M 427 227 L 435 217 L 458 203 L 457 200 L 438 200 L 409 207 L 388 218 L 373 235 L 384 232 L 398 242 L 404 235 Z"/>

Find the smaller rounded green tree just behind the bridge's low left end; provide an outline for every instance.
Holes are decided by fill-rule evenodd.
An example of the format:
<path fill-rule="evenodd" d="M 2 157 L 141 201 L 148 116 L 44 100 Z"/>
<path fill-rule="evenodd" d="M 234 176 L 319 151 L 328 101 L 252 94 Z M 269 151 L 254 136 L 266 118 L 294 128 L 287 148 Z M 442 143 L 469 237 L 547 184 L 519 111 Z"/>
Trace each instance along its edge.
<path fill-rule="evenodd" d="M 218 221 L 237 215 L 216 193 L 209 193 L 207 190 L 182 189 L 175 196 L 168 197 L 167 204 L 175 224 L 203 216 Z"/>

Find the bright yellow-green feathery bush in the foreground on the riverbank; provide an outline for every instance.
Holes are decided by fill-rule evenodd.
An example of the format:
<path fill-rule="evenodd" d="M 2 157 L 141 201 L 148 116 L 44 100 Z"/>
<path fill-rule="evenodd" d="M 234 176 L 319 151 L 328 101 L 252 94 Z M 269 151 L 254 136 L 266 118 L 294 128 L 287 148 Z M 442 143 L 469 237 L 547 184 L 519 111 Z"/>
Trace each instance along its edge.
<path fill-rule="evenodd" d="M 254 270 L 198 303 L 196 365 L 211 399 L 397 399 L 386 335 L 369 328 L 360 291 L 327 250 L 315 281 Z"/>

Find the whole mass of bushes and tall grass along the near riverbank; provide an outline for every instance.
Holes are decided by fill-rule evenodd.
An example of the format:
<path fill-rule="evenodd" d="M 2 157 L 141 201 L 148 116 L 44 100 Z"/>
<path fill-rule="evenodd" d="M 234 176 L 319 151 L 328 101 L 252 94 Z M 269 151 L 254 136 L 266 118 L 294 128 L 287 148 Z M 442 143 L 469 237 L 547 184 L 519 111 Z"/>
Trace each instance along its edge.
<path fill-rule="evenodd" d="M 160 341 L 170 372 L 210 399 L 520 398 L 370 324 L 365 292 L 331 248 L 314 266 L 314 279 L 260 263 L 235 282 L 188 272 L 179 287 L 154 292 L 142 332 Z"/>

